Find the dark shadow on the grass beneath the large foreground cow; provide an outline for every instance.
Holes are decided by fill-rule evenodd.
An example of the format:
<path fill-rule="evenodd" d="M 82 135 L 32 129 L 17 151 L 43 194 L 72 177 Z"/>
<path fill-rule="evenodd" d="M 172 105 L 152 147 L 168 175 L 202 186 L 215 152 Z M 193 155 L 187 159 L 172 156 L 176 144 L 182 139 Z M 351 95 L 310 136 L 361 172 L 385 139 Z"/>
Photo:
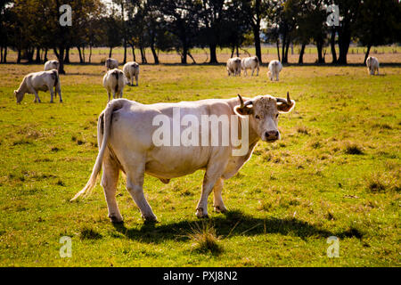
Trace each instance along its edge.
<path fill-rule="evenodd" d="M 313 224 L 296 218 L 253 217 L 241 211 L 228 211 L 224 215 L 198 221 L 180 221 L 171 224 L 144 223 L 140 228 L 127 228 L 125 224 L 113 224 L 117 232 L 128 239 L 149 243 L 164 240 L 188 240 L 188 234 L 205 224 L 213 225 L 217 236 L 229 238 L 233 236 L 254 236 L 268 233 L 297 236 L 301 239 L 316 236 L 327 238 L 335 235 Z"/>

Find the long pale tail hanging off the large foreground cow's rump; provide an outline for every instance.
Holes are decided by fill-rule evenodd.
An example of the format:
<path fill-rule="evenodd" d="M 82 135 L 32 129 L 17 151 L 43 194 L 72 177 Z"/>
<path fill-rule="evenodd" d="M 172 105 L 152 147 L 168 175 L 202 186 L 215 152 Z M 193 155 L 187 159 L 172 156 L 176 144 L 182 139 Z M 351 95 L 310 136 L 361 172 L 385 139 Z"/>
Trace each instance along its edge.
<path fill-rule="evenodd" d="M 92 170 L 92 174 L 86 183 L 85 187 L 81 190 L 78 191 L 78 193 L 74 196 L 74 198 L 70 199 L 70 202 L 72 202 L 75 199 L 78 199 L 78 197 L 84 195 L 86 197 L 87 195 L 92 193 L 92 190 L 94 189 L 94 186 L 96 185 L 96 180 L 97 176 L 99 175 L 100 171 L 102 170 L 102 160 L 104 156 L 104 151 L 106 151 L 107 148 L 107 143 L 110 137 L 110 128 L 111 128 L 111 116 L 112 112 L 114 110 L 118 110 L 122 108 L 123 101 L 117 100 L 117 101 L 112 101 L 110 102 L 106 109 L 102 111 L 102 114 L 99 116 L 98 122 L 97 122 L 97 138 L 98 138 L 98 144 L 99 144 L 99 153 L 96 158 L 96 162 L 94 163 L 94 168 Z M 101 141 L 102 138 L 102 141 Z"/>

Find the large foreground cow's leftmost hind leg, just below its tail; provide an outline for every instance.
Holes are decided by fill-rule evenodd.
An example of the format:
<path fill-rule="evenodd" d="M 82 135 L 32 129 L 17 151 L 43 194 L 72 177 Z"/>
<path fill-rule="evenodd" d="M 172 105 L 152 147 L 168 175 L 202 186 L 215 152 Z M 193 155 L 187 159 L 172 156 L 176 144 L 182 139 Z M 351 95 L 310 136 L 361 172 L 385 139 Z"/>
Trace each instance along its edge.
<path fill-rule="evenodd" d="M 119 182 L 119 167 L 114 160 L 106 155 L 103 160 L 102 187 L 106 198 L 111 223 L 121 223 L 123 217 L 119 213 L 116 200 L 117 183 Z"/>

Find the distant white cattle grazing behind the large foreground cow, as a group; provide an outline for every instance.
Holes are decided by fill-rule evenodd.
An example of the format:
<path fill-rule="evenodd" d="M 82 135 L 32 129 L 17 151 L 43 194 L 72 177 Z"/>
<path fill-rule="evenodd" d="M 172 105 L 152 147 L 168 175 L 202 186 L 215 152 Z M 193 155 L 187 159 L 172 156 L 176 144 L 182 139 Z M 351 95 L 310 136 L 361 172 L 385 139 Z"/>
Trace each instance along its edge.
<path fill-rule="evenodd" d="M 379 75 L 379 61 L 375 57 L 368 57 L 366 60 L 366 66 L 370 75 L 374 75 L 376 72 Z M 110 102 L 110 95 L 114 98 L 122 98 L 123 90 L 125 85 L 138 85 L 139 77 L 139 64 L 135 61 L 127 62 L 123 69 L 119 69 L 119 61 L 115 59 L 107 59 L 105 61 L 105 67 L 107 69 L 106 74 L 103 77 L 102 84 L 107 91 Z M 53 96 L 59 94 L 60 102 L 61 98 L 61 83 L 58 74 L 59 61 L 46 61 L 45 71 L 32 72 L 25 76 L 17 90 L 14 90 L 14 95 L 17 102 L 21 102 L 24 94 L 34 94 L 34 102 L 41 102 L 37 92 L 49 91 L 51 95 L 50 102 L 53 102 Z M 241 70 L 243 75 L 247 76 L 247 69 L 251 70 L 251 76 L 254 71 L 257 71 L 259 75 L 259 60 L 257 56 L 250 56 L 241 59 L 240 57 L 234 57 L 227 61 L 226 69 L 228 76 L 241 76 Z M 272 81 L 279 81 L 279 73 L 282 71 L 282 63 L 274 60 L 270 61 L 268 65 L 267 77 Z"/>

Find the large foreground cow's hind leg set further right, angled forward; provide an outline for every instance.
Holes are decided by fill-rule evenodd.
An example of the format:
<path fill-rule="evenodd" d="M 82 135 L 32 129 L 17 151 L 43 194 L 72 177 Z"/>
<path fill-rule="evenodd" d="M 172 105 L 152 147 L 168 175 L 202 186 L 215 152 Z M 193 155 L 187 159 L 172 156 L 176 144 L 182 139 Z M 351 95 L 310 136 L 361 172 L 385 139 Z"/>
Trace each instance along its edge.
<path fill-rule="evenodd" d="M 130 165 L 135 167 L 128 167 L 127 169 L 127 191 L 134 199 L 136 206 L 141 210 L 143 219 L 157 221 L 157 217 L 153 214 L 151 206 L 143 195 L 144 163 Z"/>

